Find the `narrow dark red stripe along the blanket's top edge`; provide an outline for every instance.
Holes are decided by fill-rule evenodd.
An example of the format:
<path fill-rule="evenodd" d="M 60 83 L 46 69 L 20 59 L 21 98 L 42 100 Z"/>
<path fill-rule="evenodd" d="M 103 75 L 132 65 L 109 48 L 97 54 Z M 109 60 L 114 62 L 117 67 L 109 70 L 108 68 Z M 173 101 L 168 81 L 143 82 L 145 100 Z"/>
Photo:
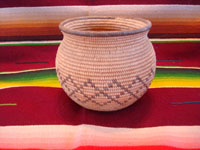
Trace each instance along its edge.
<path fill-rule="evenodd" d="M 34 7 L 34 6 L 66 6 L 66 5 L 120 5 L 120 4 L 184 4 L 199 5 L 198 0 L 6 0 L 0 1 L 0 7 Z"/>

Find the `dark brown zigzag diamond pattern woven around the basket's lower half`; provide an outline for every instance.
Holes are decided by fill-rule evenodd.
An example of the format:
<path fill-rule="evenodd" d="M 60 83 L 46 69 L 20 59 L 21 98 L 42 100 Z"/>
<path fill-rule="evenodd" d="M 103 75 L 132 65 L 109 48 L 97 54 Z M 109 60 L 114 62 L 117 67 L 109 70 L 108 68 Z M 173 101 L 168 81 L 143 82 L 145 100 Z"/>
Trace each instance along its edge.
<path fill-rule="evenodd" d="M 80 101 L 81 103 L 87 103 L 87 102 L 92 102 L 96 105 L 99 105 L 99 106 L 105 106 L 111 102 L 115 102 L 119 105 L 124 105 L 125 103 L 127 103 L 130 99 L 132 99 L 132 97 L 138 99 L 138 96 L 136 95 L 137 93 L 139 93 L 139 91 L 143 88 L 147 89 L 148 88 L 148 85 L 146 85 L 146 83 L 139 77 L 139 76 L 136 76 L 136 79 L 133 80 L 130 84 L 128 84 L 127 87 L 123 86 L 119 81 L 117 81 L 116 79 L 113 79 L 111 83 L 108 83 L 107 84 L 107 87 L 103 87 L 103 90 L 101 90 L 99 87 L 97 87 L 95 85 L 94 82 L 92 82 L 91 79 L 88 79 L 86 82 L 83 82 L 83 84 L 76 84 L 74 82 L 74 80 L 72 79 L 71 75 L 67 75 L 67 77 L 63 80 L 63 77 L 61 76 L 61 73 L 59 71 L 59 69 L 56 70 L 57 73 L 58 73 L 58 77 L 59 77 L 59 80 L 60 80 L 60 83 L 61 83 L 61 86 L 65 89 L 67 89 L 67 91 L 69 91 L 70 93 L 68 93 L 68 96 L 69 97 L 74 97 L 76 98 L 78 101 Z M 150 73 L 148 74 L 148 77 L 145 78 L 146 81 L 148 81 L 151 76 L 154 74 L 154 71 L 153 69 L 151 69 Z M 139 90 L 137 90 L 135 92 L 135 94 L 130 90 L 130 88 L 133 87 L 134 84 L 136 84 L 138 82 L 142 83 L 143 86 L 140 87 Z M 70 89 L 66 82 L 70 82 L 72 83 L 72 85 L 75 87 L 74 90 Z M 115 96 L 110 96 L 106 91 L 108 91 L 109 89 L 113 88 L 114 85 L 116 85 L 117 87 L 119 87 L 120 89 L 122 89 L 123 91 L 120 92 L 118 95 L 115 95 Z M 92 87 L 95 91 L 94 95 L 92 96 L 88 96 L 87 94 L 85 94 L 83 92 L 83 89 L 84 87 Z M 85 97 L 86 99 L 85 100 L 81 100 L 79 99 L 77 96 L 76 96 L 76 93 L 79 93 L 81 94 L 83 97 Z M 121 96 L 125 95 L 125 93 L 128 93 L 130 95 L 130 97 L 126 100 L 124 100 L 123 102 L 120 102 L 118 101 L 117 99 L 119 99 Z M 103 95 L 106 99 L 108 99 L 109 101 L 106 101 L 106 102 L 103 102 L 103 103 L 99 103 L 97 101 L 95 101 L 94 99 L 99 97 L 100 95 Z"/>

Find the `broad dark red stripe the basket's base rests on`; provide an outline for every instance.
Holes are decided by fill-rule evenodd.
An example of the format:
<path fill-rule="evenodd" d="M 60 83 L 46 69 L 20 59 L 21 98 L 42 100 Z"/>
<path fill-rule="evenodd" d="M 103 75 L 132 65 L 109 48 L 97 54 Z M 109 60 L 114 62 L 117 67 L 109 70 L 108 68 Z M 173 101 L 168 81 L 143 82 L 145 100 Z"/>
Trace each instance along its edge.
<path fill-rule="evenodd" d="M 198 101 L 197 93 L 200 88 L 149 89 L 134 105 L 106 113 L 80 107 L 59 88 L 8 88 L 0 92 L 1 103 L 17 106 L 0 107 L 0 125 L 92 124 L 135 128 L 200 125 L 200 104 L 170 104 Z"/>

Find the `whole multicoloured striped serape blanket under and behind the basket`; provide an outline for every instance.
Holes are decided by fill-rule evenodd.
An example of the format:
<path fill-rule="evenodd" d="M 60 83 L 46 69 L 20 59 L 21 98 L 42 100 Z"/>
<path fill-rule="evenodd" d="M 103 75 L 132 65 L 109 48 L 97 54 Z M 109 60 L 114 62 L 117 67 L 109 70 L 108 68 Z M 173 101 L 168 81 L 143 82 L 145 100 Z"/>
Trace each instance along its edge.
<path fill-rule="evenodd" d="M 199 4 L 0 1 L 0 150 L 200 149 Z M 81 15 L 135 13 L 153 23 L 149 36 L 157 70 L 149 90 L 120 111 L 82 108 L 56 76 L 58 23 Z"/>

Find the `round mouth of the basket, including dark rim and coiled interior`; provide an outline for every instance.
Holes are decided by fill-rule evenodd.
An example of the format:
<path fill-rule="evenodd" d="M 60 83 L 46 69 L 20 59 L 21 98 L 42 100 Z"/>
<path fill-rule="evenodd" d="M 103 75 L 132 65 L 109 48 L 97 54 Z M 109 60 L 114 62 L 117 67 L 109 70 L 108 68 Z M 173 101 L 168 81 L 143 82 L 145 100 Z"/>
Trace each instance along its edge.
<path fill-rule="evenodd" d="M 149 30 L 151 22 L 144 19 L 116 17 L 81 17 L 60 24 L 63 32 L 84 36 L 129 35 Z"/>

